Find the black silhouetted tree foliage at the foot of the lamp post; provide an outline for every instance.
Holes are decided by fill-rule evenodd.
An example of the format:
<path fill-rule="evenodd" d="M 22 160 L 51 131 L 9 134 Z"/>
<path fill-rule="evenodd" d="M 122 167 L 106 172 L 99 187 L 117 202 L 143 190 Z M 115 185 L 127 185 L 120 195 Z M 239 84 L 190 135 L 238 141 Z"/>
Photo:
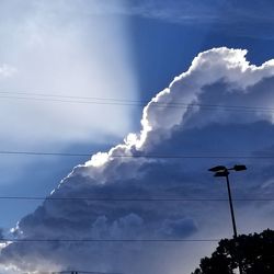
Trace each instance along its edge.
<path fill-rule="evenodd" d="M 220 240 L 210 258 L 203 258 L 192 274 L 233 274 L 241 262 L 243 274 L 274 273 L 274 231 Z"/>

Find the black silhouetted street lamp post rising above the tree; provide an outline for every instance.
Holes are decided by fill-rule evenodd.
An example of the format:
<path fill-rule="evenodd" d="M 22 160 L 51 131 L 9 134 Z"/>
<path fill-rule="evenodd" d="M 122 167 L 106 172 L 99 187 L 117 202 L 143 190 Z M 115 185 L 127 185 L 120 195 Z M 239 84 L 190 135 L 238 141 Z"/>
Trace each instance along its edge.
<path fill-rule="evenodd" d="M 230 183 L 229 183 L 229 171 L 243 171 L 247 170 L 247 167 L 244 164 L 235 164 L 232 168 L 227 168 L 225 165 L 217 165 L 208 171 L 215 172 L 214 176 L 225 176 L 227 181 L 227 191 L 228 191 L 228 199 L 229 199 L 229 207 L 230 207 L 230 214 L 231 214 L 231 219 L 232 219 L 232 227 L 233 227 L 233 238 L 237 241 L 238 233 L 237 233 L 237 227 L 236 227 L 236 219 L 235 219 L 235 210 L 233 210 L 233 204 L 232 204 L 232 197 L 231 197 L 231 191 L 230 191 Z M 239 271 L 240 274 L 242 274 L 242 265 L 239 260 Z"/>

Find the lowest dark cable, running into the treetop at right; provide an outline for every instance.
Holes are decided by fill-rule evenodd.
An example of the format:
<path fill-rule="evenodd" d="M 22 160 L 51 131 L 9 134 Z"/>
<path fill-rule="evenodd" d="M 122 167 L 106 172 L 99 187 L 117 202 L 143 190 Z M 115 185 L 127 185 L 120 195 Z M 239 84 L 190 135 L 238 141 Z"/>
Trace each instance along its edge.
<path fill-rule="evenodd" d="M 217 242 L 220 239 L 11 239 L 0 238 L 4 242 Z"/>

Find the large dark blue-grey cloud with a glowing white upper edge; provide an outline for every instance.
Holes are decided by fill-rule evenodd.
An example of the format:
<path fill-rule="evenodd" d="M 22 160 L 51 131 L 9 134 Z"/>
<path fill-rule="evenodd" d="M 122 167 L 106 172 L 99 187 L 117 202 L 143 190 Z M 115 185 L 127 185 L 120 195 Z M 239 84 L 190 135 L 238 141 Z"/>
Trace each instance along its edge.
<path fill-rule="evenodd" d="M 270 60 L 256 67 L 246 55 L 247 50 L 226 47 L 201 53 L 187 71 L 144 109 L 140 133 L 129 134 L 124 144 L 76 167 L 52 197 L 226 198 L 222 180 L 213 179 L 207 169 L 242 161 L 248 171 L 231 174 L 233 194 L 249 198 L 273 195 L 271 162 L 239 157 L 273 151 L 274 64 Z M 193 158 L 134 158 L 141 155 Z M 237 217 L 241 216 L 237 218 L 239 232 L 274 225 L 267 203 L 237 203 L 236 209 Z M 2 249 L 0 261 L 20 271 L 178 274 L 193 271 L 214 243 L 84 239 L 216 239 L 230 237 L 231 225 L 224 202 L 45 199 L 20 220 L 13 235 L 83 240 L 13 242 Z"/>

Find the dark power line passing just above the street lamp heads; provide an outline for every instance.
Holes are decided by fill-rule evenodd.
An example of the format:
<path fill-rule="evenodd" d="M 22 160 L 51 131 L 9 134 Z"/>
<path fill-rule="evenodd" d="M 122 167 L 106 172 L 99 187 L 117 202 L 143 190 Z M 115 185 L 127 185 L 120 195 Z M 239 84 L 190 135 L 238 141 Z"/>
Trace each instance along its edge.
<path fill-rule="evenodd" d="M 91 153 L 65 153 L 43 151 L 12 151 L 0 150 L 0 155 L 27 155 L 27 156 L 60 156 L 60 157 L 91 157 Z M 152 159 L 273 159 L 274 155 L 110 155 L 111 158 L 152 158 Z"/>

